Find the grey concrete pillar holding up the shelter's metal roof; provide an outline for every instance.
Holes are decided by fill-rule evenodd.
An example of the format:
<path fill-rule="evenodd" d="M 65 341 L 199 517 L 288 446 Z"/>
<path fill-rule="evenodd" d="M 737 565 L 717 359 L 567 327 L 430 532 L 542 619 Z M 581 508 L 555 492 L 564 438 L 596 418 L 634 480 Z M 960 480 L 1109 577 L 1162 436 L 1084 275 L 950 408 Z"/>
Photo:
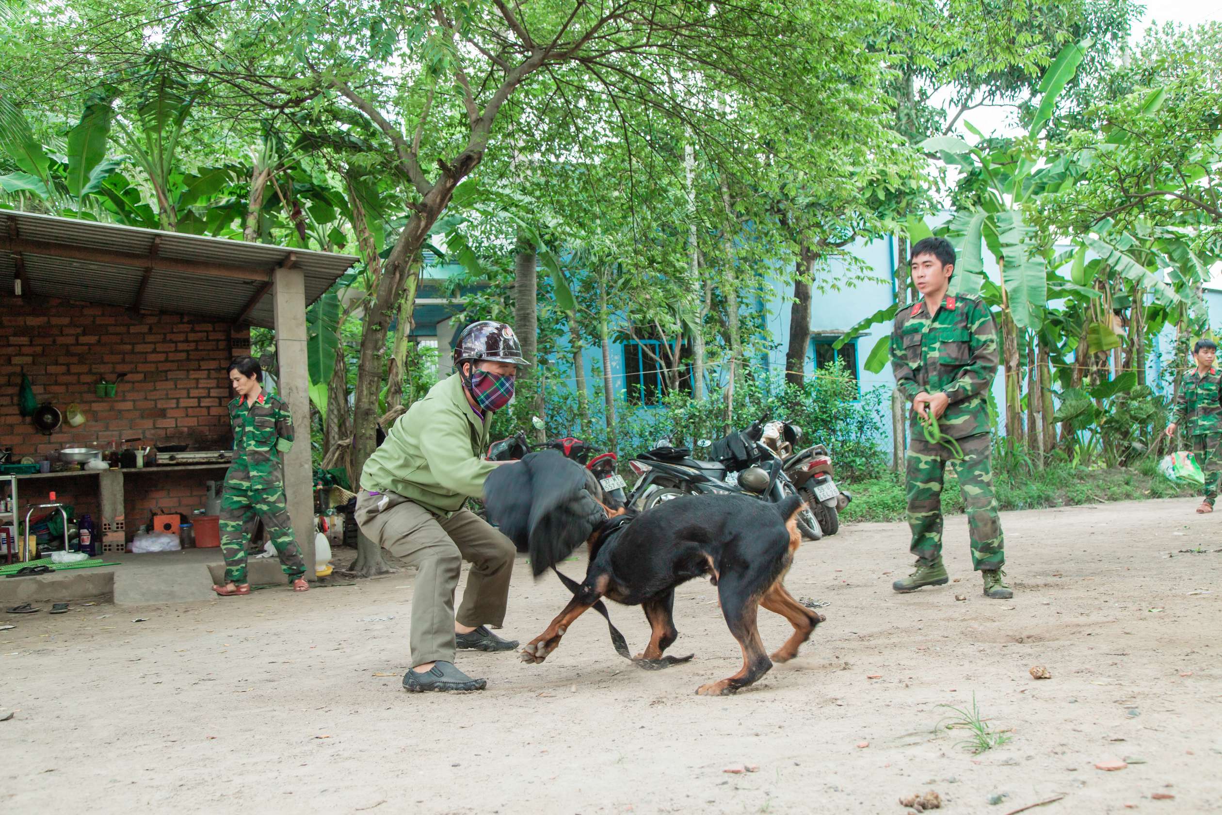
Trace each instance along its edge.
<path fill-rule="evenodd" d="M 306 277 L 299 269 L 276 269 L 276 360 L 280 365 L 280 398 L 288 403 L 296 440 L 285 456 L 285 496 L 293 535 L 306 558 L 306 573 L 314 579 L 314 470 L 310 464 L 309 369 L 306 363 Z"/>

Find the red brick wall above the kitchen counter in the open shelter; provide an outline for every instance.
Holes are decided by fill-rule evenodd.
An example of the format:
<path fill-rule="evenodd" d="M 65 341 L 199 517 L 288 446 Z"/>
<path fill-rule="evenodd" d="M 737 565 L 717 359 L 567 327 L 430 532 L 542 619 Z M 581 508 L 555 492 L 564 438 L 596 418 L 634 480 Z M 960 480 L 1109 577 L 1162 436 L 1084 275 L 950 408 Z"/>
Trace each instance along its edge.
<path fill-rule="evenodd" d="M 65 447 L 110 450 L 123 439 L 144 444 L 189 444 L 220 450 L 232 436 L 226 402 L 225 365 L 230 326 L 180 314 L 132 314 L 109 305 L 54 298 L 0 297 L 0 447 L 43 458 Z M 34 431 L 17 411 L 21 374 L 34 396 L 61 412 L 77 403 L 86 423 L 67 422 L 53 436 Z M 119 384 L 117 396 L 99 398 L 103 376 Z"/>

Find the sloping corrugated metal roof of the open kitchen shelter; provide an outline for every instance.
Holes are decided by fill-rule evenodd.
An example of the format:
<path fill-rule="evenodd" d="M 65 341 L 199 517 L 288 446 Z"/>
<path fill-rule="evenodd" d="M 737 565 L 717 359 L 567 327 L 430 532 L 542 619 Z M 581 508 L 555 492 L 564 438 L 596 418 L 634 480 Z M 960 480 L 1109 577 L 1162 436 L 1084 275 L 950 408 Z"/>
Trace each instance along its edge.
<path fill-rule="evenodd" d="M 20 249 L 27 293 L 133 307 L 154 246 L 142 308 L 226 321 L 237 320 L 290 253 L 304 275 L 307 303 L 357 261 L 346 254 L 0 210 L 0 286 L 12 291 L 13 249 Z M 271 327 L 273 313 L 269 292 L 247 319 Z"/>

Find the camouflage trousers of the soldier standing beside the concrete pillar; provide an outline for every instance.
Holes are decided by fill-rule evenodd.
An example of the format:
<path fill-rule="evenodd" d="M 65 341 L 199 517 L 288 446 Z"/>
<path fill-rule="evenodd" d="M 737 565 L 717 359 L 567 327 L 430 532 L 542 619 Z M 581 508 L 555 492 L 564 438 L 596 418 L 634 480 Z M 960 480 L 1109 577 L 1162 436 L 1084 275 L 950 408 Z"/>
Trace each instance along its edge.
<path fill-rule="evenodd" d="M 285 508 L 285 488 L 252 486 L 249 484 L 225 484 L 221 496 L 221 554 L 225 555 L 225 580 L 238 585 L 246 583 L 246 543 L 255 524 L 263 525 L 271 538 L 271 545 L 280 555 L 280 568 L 288 579 L 306 573 L 302 550 L 293 538 L 293 524 Z"/>

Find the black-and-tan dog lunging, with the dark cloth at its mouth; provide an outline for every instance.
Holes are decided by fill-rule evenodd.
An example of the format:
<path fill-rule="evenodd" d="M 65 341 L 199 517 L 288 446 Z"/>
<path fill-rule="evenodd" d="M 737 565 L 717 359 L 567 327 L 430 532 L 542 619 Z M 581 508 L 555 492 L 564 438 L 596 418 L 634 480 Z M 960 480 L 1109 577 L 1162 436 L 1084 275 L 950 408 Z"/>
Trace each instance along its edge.
<path fill-rule="evenodd" d="M 508 519 L 501 523 L 502 532 L 525 539 L 535 576 L 567 557 L 583 534 L 590 560 L 585 579 L 571 587 L 574 594 L 569 604 L 523 648 L 523 661 L 543 662 L 573 621 L 607 598 L 644 609 L 653 634 L 637 660 L 659 667 L 662 652 L 678 637 L 672 617 L 675 587 L 697 577 L 708 576 L 717 587 L 722 615 L 743 651 L 738 673 L 701 685 L 699 694 L 731 694 L 756 682 L 774 660 L 792 660 L 822 622 L 821 615 L 794 600 L 783 585 L 802 543 L 794 522 L 803 506 L 800 499 L 766 503 L 742 495 L 695 495 L 666 501 L 635 517 L 620 517 L 622 511 L 601 507 L 596 489 L 583 489 L 584 477 L 563 466 L 573 462 L 558 453 L 558 462 L 532 456 L 523 458 L 521 468 L 503 467 L 489 477 L 489 517 L 500 522 L 500 512 Z M 517 507 L 517 523 L 506 506 Z M 532 506 L 538 511 L 532 513 Z M 793 626 L 793 634 L 771 660 L 756 626 L 760 606 Z"/>

